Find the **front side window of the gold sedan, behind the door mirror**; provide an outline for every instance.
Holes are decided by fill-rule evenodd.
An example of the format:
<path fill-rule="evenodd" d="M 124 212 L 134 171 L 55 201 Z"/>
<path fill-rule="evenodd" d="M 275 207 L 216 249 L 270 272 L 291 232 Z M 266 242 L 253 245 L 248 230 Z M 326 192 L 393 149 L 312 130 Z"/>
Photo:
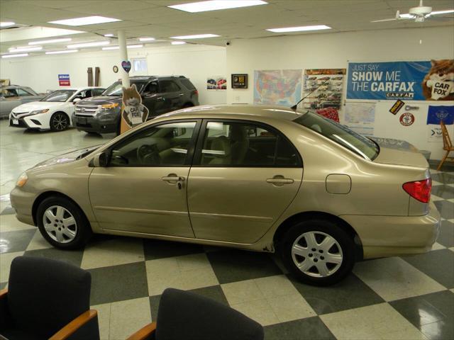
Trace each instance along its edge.
<path fill-rule="evenodd" d="M 110 166 L 184 166 L 196 122 L 145 128 L 111 149 Z"/>

